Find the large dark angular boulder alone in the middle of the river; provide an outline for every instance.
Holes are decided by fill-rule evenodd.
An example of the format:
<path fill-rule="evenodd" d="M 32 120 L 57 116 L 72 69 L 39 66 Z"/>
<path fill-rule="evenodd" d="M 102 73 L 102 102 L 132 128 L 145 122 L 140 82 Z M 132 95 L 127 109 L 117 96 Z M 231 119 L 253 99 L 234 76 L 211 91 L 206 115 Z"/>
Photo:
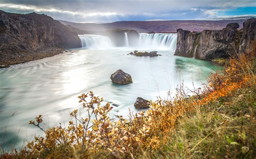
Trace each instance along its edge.
<path fill-rule="evenodd" d="M 123 70 L 118 69 L 116 72 L 114 72 L 110 79 L 113 83 L 117 84 L 130 84 L 132 83 L 132 77 L 128 73 L 125 73 Z"/>

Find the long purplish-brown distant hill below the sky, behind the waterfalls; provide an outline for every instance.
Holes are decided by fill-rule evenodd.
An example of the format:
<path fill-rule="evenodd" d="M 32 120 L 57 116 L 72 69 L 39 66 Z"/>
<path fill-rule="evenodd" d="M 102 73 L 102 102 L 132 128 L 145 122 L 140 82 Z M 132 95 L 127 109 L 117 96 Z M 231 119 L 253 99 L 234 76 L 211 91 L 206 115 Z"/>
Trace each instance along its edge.
<path fill-rule="evenodd" d="M 113 29 L 136 30 L 137 32 L 177 32 L 177 29 L 190 31 L 221 30 L 229 23 L 242 24 L 251 17 L 234 17 L 221 19 L 197 19 L 197 20 L 156 20 L 156 21 L 116 21 L 113 23 L 72 23 L 59 20 L 64 25 L 71 25 L 84 31 L 107 31 Z"/>

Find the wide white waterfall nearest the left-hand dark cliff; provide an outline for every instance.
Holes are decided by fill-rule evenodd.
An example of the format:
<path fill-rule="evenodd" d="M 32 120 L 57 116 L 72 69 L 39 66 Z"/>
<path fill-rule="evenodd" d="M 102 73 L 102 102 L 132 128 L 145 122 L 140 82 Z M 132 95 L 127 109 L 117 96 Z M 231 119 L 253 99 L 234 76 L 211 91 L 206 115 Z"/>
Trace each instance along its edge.
<path fill-rule="evenodd" d="M 83 48 L 110 48 L 113 47 L 108 36 L 102 35 L 78 35 Z"/>

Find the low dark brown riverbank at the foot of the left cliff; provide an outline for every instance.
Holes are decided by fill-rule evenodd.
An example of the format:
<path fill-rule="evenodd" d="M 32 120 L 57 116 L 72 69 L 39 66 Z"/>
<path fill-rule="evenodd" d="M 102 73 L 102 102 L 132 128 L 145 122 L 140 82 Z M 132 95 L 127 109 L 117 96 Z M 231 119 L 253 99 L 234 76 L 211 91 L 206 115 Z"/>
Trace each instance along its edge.
<path fill-rule="evenodd" d="M 10 67 L 10 65 L 25 63 L 51 57 L 65 52 L 64 49 L 52 47 L 30 52 L 1 53 L 0 68 Z"/>

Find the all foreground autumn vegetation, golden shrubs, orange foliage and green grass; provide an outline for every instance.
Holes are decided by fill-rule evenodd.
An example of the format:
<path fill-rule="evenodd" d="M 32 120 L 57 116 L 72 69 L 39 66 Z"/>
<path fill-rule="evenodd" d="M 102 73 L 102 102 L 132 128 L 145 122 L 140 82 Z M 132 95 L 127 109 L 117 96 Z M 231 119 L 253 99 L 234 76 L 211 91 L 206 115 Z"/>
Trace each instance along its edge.
<path fill-rule="evenodd" d="M 65 128 L 45 132 L 1 158 L 254 158 L 256 156 L 256 44 L 213 71 L 203 88 L 177 88 L 129 119 L 110 121 L 110 104 L 93 92 L 79 96 L 87 118 L 71 112 Z"/>

